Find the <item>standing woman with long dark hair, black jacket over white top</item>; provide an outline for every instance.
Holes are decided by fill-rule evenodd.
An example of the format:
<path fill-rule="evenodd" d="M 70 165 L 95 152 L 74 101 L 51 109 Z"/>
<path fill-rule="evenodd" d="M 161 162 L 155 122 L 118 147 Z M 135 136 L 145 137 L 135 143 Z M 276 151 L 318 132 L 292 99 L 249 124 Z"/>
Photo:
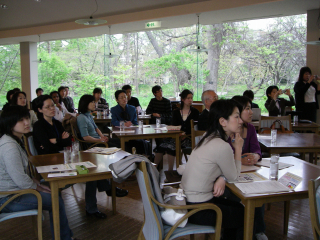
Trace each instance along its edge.
<path fill-rule="evenodd" d="M 302 112 L 301 118 L 316 122 L 317 109 L 319 109 L 317 95 L 320 94 L 320 84 L 314 80 L 320 78 L 311 74 L 311 69 L 308 67 L 300 69 L 299 79 L 294 85 L 294 92 L 297 111 Z"/>

